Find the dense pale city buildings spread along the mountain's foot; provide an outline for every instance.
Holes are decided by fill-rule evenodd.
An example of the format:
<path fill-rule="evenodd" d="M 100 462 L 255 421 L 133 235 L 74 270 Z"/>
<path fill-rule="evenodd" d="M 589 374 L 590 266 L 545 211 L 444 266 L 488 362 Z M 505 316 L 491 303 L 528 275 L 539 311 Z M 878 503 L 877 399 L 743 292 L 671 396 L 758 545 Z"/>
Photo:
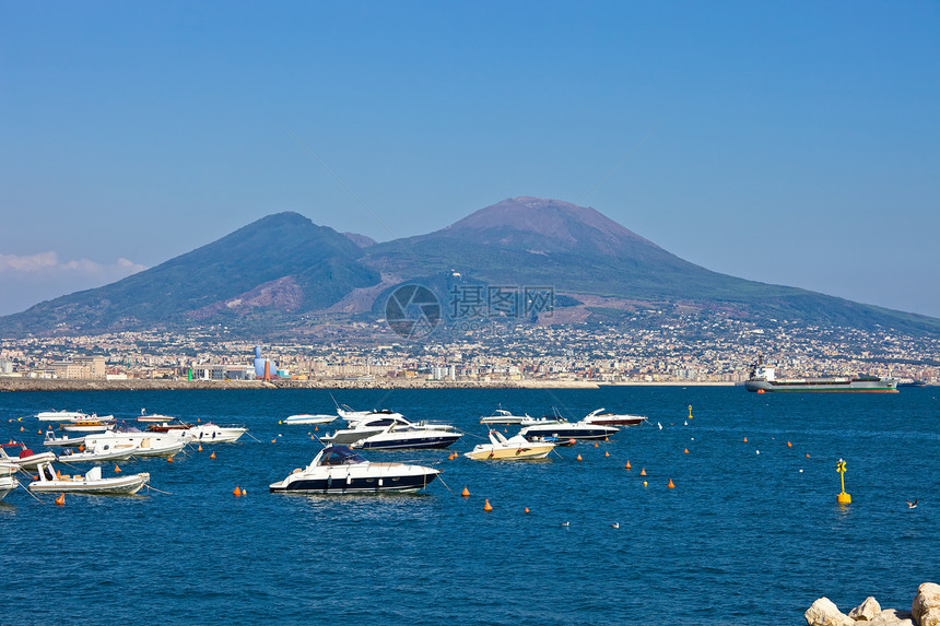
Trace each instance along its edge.
<path fill-rule="evenodd" d="M 891 331 L 760 326 L 709 316 L 627 323 L 493 323 L 408 341 L 383 321 L 319 324 L 260 342 L 224 327 L 4 339 L 7 379 L 240 381 L 255 346 L 273 379 L 298 386 L 735 385 L 762 358 L 790 376 L 891 376 L 940 383 L 940 340 Z"/>

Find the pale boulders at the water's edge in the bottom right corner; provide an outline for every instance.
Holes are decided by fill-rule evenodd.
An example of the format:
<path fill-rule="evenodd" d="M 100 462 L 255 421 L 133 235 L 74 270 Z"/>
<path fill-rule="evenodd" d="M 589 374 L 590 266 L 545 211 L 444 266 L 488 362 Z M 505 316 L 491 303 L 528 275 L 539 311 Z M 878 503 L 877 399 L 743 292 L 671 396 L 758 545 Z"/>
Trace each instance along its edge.
<path fill-rule="evenodd" d="M 910 611 L 882 610 L 878 600 L 868 597 L 846 615 L 829 598 L 820 598 L 803 617 L 809 626 L 940 626 L 940 584 L 918 587 Z"/>

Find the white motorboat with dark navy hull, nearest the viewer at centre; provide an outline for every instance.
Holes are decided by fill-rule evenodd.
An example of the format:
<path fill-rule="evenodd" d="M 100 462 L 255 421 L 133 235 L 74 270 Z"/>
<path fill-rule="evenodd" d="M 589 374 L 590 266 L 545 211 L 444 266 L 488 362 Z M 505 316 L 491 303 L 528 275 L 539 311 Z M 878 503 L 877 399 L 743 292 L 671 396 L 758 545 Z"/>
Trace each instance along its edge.
<path fill-rule="evenodd" d="M 378 494 L 423 489 L 439 470 L 404 463 L 373 463 L 345 446 L 320 450 L 304 469 L 273 483 L 272 493 Z"/>

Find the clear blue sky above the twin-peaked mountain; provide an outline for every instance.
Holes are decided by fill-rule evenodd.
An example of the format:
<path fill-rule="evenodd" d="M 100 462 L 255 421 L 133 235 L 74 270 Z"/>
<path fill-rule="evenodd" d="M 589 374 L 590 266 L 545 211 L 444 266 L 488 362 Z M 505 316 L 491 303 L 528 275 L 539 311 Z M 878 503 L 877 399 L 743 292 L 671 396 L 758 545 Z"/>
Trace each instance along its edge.
<path fill-rule="evenodd" d="M 940 317 L 938 2 L 0 0 L 0 314 L 263 215 L 514 196 Z"/>

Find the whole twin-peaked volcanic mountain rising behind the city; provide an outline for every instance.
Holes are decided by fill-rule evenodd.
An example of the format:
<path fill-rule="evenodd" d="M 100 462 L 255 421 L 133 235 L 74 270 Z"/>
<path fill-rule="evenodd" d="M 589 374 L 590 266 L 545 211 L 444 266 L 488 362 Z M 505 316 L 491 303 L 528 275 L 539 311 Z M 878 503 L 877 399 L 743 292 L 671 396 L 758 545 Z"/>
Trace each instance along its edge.
<path fill-rule="evenodd" d="M 527 197 L 440 231 L 378 244 L 296 213 L 269 215 L 117 283 L 0 318 L 0 334 L 272 320 L 291 327 L 318 312 L 377 318 L 407 283 L 428 287 L 442 303 L 456 284 L 551 290 L 556 306 L 576 311 L 576 319 L 672 307 L 940 335 L 938 319 L 713 272 L 595 209 Z"/>

